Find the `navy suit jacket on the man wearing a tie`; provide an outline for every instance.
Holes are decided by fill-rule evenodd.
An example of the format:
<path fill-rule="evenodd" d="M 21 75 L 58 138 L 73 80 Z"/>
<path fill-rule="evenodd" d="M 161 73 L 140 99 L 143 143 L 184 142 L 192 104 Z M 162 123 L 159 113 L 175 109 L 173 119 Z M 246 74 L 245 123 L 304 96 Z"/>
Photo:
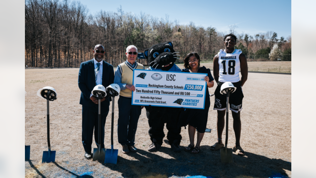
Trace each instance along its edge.
<path fill-rule="evenodd" d="M 94 59 L 82 62 L 80 64 L 78 86 L 81 90 L 80 104 L 90 107 L 98 107 L 90 99 L 91 91 L 95 86 L 95 74 L 94 74 Z M 103 60 L 102 64 L 102 85 L 107 87 L 114 81 L 113 66 Z M 108 107 L 110 105 L 109 96 L 106 96 L 106 100 L 101 102 L 101 108 Z"/>

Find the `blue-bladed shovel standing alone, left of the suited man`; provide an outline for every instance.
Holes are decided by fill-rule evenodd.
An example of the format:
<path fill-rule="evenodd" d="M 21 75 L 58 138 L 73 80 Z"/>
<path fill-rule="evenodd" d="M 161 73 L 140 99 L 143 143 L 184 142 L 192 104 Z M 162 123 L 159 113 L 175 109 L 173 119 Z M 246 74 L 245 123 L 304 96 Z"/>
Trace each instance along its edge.
<path fill-rule="evenodd" d="M 56 151 L 51 151 L 51 142 L 49 140 L 49 96 L 51 91 L 47 91 L 47 143 L 48 151 L 43 151 L 42 163 L 43 162 L 55 162 Z"/>

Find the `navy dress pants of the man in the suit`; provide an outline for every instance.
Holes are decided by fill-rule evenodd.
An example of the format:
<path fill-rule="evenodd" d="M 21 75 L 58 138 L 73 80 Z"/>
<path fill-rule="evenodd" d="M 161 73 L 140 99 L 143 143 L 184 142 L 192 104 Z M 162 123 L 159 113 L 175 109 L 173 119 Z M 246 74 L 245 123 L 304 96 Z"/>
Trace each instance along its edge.
<path fill-rule="evenodd" d="M 109 107 L 101 107 L 101 148 L 104 148 L 104 126 L 106 116 L 109 113 Z M 93 139 L 99 148 L 99 124 L 98 124 L 98 107 L 89 107 L 82 105 L 82 144 L 86 153 L 91 153 L 91 145 Z"/>

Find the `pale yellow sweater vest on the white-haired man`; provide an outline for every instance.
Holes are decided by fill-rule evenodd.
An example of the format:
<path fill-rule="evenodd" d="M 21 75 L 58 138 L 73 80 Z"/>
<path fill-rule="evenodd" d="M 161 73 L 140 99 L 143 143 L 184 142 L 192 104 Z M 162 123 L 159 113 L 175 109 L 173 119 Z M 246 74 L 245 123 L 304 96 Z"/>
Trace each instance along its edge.
<path fill-rule="evenodd" d="M 129 85 L 133 85 L 133 70 L 134 69 L 144 69 L 144 66 L 138 62 L 136 62 L 135 67 L 131 67 L 126 61 L 119 64 L 119 70 L 122 75 L 122 82 L 121 83 L 126 83 Z M 120 96 L 124 97 L 132 97 L 132 91 L 128 88 L 125 90 L 121 90 L 119 93 Z"/>

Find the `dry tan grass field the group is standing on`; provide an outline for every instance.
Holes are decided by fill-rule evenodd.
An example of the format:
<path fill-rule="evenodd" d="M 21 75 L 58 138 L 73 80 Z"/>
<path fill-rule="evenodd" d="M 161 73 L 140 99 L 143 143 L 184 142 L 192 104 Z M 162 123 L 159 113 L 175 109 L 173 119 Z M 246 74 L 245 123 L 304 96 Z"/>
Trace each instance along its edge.
<path fill-rule="evenodd" d="M 281 62 L 277 62 L 278 64 Z M 248 65 L 251 65 L 248 62 Z M 284 64 L 285 65 L 285 64 Z M 180 65 L 179 65 L 180 66 Z M 180 67 L 182 68 L 182 66 Z M 79 68 L 25 70 L 25 144 L 31 146 L 31 159 L 25 161 L 25 177 L 139 177 L 166 178 L 203 175 L 212 178 L 291 177 L 291 75 L 249 73 L 243 86 L 241 146 L 246 156 L 234 153 L 234 163 L 221 163 L 220 151 L 211 151 L 216 131 L 205 133 L 197 155 L 182 150 L 174 153 L 163 143 L 158 152 L 148 152 L 151 144 L 145 109 L 136 132 L 137 153 L 125 155 L 117 141 L 118 97 L 115 99 L 114 149 L 118 162 L 104 164 L 84 158 L 81 142 L 81 109 L 78 88 Z M 47 151 L 46 100 L 36 92 L 44 86 L 57 91 L 50 102 L 50 140 L 56 162 L 41 163 Z M 216 84 L 209 92 L 214 93 Z M 211 107 L 207 128 L 216 129 L 216 111 Z M 105 126 L 105 147 L 111 148 L 111 109 Z M 165 129 L 167 134 L 167 130 Z M 181 130 L 181 148 L 189 144 L 188 131 Z M 225 138 L 225 131 L 223 133 Z M 166 138 L 165 138 L 166 140 Z M 228 148 L 234 147 L 233 119 L 229 114 Z M 96 145 L 93 144 L 93 148 Z"/>

